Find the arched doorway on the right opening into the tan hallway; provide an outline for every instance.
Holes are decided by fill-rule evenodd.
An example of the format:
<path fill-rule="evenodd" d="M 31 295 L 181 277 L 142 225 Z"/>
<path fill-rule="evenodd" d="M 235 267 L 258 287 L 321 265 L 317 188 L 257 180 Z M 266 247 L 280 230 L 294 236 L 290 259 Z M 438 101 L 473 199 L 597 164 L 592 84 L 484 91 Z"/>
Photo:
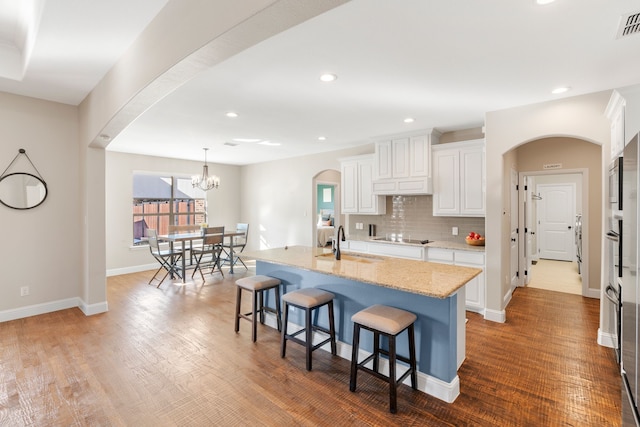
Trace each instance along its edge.
<path fill-rule="evenodd" d="M 536 182 L 548 184 L 548 187 L 571 186 L 575 184 L 575 198 L 568 200 L 567 206 L 575 208 L 575 214 L 581 215 L 582 239 L 580 274 L 582 277 L 582 295 L 591 298 L 600 297 L 600 271 L 602 245 L 600 236 L 602 224 L 601 200 L 602 188 L 602 149 L 600 145 L 571 137 L 541 138 L 520 145 L 510 156 L 512 167 L 519 172 L 518 179 L 518 275 L 519 286 L 527 284 L 531 272 L 528 255 L 532 250 L 540 248 L 540 235 L 537 218 L 535 223 L 530 220 L 534 215 L 534 206 L 540 197 L 533 194 L 529 188 Z M 543 188 L 543 187 L 540 187 Z M 536 197 L 534 197 L 536 196 Z M 535 209 L 539 206 L 535 206 Z M 527 218 L 526 213 L 529 213 Z M 535 211 L 539 215 L 539 211 Z M 573 242 L 575 239 L 575 214 L 568 219 L 565 237 Z M 569 228 L 571 227 L 571 228 Z M 532 235 L 532 233 L 534 233 Z M 558 233 L 560 235 L 560 233 Z M 533 237 L 535 236 L 535 240 Z M 527 251 L 528 249 L 528 251 Z M 569 247 L 570 252 L 574 250 Z M 575 259 L 577 249 L 570 253 L 571 261 Z M 548 255 L 546 255 L 549 257 Z M 513 260 L 513 254 L 511 255 Z"/>

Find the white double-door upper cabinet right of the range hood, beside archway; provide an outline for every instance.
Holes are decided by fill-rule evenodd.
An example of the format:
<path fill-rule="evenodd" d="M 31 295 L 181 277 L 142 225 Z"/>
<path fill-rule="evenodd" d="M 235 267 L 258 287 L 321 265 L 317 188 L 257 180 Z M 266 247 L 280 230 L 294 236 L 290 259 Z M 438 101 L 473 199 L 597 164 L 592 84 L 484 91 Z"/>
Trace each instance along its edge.
<path fill-rule="evenodd" d="M 485 206 L 484 140 L 433 147 L 433 215 L 483 217 Z"/>

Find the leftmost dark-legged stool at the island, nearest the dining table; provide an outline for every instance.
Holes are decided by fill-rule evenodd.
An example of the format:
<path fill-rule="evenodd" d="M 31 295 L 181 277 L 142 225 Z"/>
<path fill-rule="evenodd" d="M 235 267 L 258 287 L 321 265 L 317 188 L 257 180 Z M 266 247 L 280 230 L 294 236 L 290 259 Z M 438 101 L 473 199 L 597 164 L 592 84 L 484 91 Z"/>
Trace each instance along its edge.
<path fill-rule="evenodd" d="M 268 311 L 270 313 L 274 313 L 276 315 L 276 319 L 278 322 L 278 331 L 282 329 L 282 323 L 280 320 L 280 279 L 276 279 L 269 276 L 252 276 L 252 277 L 243 277 L 242 279 L 236 280 L 237 286 L 237 294 L 236 294 L 236 332 L 240 330 L 240 318 L 245 320 L 249 320 L 251 322 L 251 339 L 253 342 L 256 342 L 257 336 L 257 322 L 256 316 L 260 314 L 260 323 L 264 324 L 264 312 Z M 242 301 L 242 290 L 246 290 L 251 292 L 251 311 L 248 313 L 240 312 L 240 305 Z M 276 296 L 276 308 L 275 310 L 271 307 L 266 307 L 264 305 L 264 295 L 265 291 L 269 289 L 273 289 Z M 258 304 L 258 296 L 260 296 L 260 301 Z"/>

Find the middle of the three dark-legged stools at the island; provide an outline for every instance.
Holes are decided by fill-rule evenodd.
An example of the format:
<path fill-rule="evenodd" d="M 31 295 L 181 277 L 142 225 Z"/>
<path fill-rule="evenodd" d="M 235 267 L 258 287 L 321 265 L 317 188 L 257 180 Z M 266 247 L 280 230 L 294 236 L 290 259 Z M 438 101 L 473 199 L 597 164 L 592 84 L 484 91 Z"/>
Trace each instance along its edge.
<path fill-rule="evenodd" d="M 311 352 L 322 347 L 326 343 L 331 343 L 331 354 L 336 354 L 336 330 L 333 322 L 333 298 L 331 292 L 323 291 L 316 288 L 304 288 L 291 291 L 282 296 L 284 301 L 284 327 L 282 328 L 282 346 L 280 357 L 285 357 L 287 351 L 287 340 L 291 340 L 307 349 L 307 371 L 311 370 Z M 313 325 L 311 321 L 311 313 L 313 310 L 326 305 L 329 309 L 329 329 L 321 326 Z M 304 329 L 300 329 L 293 334 L 287 333 L 287 323 L 289 319 L 289 306 L 298 307 L 304 310 Z M 329 337 L 322 342 L 313 345 L 313 331 L 321 331 L 329 334 Z M 305 332 L 305 340 L 302 341 L 297 337 L 298 334 Z"/>

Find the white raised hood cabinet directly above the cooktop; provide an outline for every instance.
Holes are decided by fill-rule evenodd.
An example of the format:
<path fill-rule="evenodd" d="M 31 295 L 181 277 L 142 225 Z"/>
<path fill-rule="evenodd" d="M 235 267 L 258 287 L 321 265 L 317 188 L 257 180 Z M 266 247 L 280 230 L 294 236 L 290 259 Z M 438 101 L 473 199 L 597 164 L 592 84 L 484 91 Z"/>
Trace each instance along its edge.
<path fill-rule="evenodd" d="M 373 192 L 375 194 L 431 194 L 431 144 L 434 130 L 376 141 Z"/>

